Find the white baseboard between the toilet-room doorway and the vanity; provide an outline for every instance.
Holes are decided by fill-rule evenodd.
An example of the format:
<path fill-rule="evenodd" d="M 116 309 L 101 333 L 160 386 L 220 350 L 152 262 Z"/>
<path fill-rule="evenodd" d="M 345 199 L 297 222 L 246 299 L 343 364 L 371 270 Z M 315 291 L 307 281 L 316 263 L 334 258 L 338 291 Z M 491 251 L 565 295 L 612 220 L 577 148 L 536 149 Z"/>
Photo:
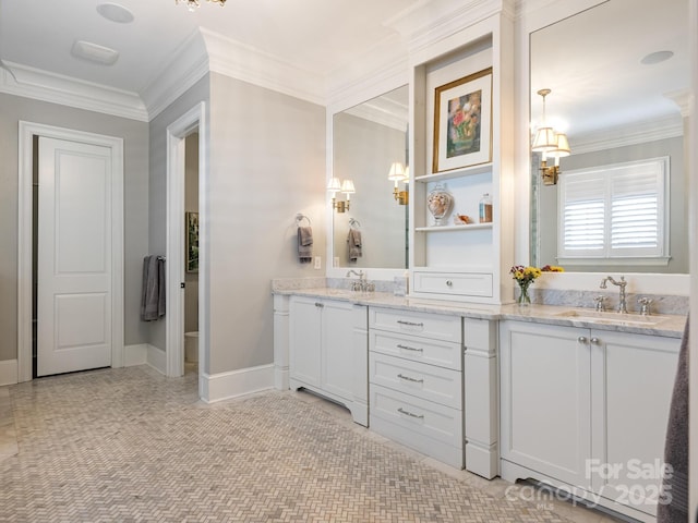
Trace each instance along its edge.
<path fill-rule="evenodd" d="M 274 364 L 200 376 L 200 391 L 206 403 L 238 398 L 274 388 Z"/>

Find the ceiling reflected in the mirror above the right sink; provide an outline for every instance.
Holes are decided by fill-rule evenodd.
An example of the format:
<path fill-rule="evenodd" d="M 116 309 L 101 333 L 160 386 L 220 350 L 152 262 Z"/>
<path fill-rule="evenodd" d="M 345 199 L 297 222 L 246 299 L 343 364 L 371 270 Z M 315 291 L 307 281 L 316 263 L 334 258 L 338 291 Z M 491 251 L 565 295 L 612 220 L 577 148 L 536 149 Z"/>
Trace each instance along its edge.
<path fill-rule="evenodd" d="M 646 56 L 672 51 L 666 61 Z M 690 85 L 687 0 L 610 0 L 531 35 L 531 119 L 569 135 L 675 117 Z M 683 95 L 682 95 L 683 94 Z M 636 125 L 637 126 L 637 125 Z M 573 144 L 574 148 L 574 144 Z"/>

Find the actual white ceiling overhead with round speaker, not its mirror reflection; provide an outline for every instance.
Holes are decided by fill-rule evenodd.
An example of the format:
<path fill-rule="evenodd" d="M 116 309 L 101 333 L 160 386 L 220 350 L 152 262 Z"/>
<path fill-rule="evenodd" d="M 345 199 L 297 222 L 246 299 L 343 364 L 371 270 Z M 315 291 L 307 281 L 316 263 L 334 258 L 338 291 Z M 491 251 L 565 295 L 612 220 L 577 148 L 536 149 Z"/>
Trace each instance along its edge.
<path fill-rule="evenodd" d="M 423 0 L 228 0 L 194 12 L 174 0 L 0 0 L 0 59 L 111 88 L 143 93 L 202 27 L 309 73 L 351 64 L 395 31 L 383 23 Z M 97 12 L 118 3 L 116 23 Z M 71 56 L 75 40 L 119 51 L 113 65 Z"/>

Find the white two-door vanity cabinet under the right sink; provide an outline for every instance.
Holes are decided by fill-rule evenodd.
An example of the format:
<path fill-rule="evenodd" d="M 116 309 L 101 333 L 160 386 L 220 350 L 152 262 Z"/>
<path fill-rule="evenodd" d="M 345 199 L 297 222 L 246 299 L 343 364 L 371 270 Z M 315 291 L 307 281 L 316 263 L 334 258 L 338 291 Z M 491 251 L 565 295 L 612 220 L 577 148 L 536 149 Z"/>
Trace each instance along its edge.
<path fill-rule="evenodd" d="M 502 477 L 657 512 L 681 340 L 502 321 Z"/>

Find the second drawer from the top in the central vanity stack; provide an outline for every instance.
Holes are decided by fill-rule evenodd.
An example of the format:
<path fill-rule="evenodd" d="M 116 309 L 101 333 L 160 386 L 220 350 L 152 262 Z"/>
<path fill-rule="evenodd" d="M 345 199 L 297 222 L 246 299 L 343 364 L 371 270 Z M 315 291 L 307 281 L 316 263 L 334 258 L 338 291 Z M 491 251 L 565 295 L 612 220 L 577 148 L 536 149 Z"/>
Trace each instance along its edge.
<path fill-rule="evenodd" d="M 458 372 L 462 369 L 461 344 L 453 341 L 429 340 L 371 329 L 369 350 Z"/>

